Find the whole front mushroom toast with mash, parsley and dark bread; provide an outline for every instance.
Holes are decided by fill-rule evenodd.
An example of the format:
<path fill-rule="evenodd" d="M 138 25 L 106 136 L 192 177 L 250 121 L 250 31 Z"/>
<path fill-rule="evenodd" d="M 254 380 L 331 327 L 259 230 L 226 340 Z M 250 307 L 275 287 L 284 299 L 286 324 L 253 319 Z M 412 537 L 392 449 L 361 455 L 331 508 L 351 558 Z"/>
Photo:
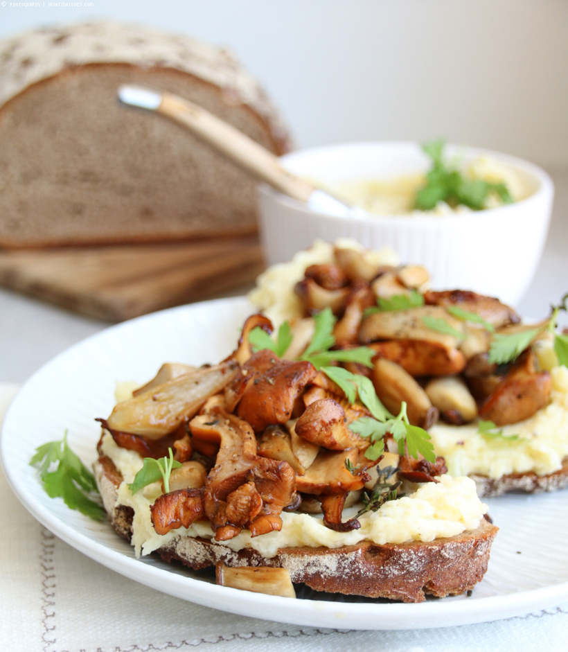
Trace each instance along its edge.
<path fill-rule="evenodd" d="M 277 333 L 253 315 L 220 364 L 164 364 L 123 387 L 95 465 L 112 525 L 137 555 L 215 566 L 249 590 L 416 602 L 472 589 L 497 533 L 474 482 L 445 473 L 414 403 L 381 402 L 377 351 L 344 342 L 346 321 L 320 307 Z"/>

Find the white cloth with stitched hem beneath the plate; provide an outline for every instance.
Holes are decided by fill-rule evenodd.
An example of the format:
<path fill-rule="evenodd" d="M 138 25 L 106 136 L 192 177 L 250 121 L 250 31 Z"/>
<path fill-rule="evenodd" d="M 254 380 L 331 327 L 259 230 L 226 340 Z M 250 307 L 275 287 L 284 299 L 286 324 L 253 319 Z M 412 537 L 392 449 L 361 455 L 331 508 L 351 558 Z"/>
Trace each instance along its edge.
<path fill-rule="evenodd" d="M 16 390 L 0 384 L 0 419 Z M 1 472 L 0 522 L 0 650 L 6 652 L 510 652 L 568 646 L 568 604 L 486 624 L 385 632 L 285 625 L 198 606 L 77 552 L 30 516 Z"/>

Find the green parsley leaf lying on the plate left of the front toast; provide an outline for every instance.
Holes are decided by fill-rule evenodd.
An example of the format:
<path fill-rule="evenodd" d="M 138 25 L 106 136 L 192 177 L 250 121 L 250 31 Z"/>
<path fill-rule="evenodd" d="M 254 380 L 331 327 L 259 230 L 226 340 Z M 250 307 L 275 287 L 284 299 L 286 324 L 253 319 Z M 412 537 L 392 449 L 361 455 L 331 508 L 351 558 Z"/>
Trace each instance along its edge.
<path fill-rule="evenodd" d="M 60 441 L 38 446 L 30 466 L 39 468 L 39 477 L 50 498 L 61 497 L 68 507 L 94 520 L 105 518 L 94 475 L 69 448 L 66 430 Z"/>

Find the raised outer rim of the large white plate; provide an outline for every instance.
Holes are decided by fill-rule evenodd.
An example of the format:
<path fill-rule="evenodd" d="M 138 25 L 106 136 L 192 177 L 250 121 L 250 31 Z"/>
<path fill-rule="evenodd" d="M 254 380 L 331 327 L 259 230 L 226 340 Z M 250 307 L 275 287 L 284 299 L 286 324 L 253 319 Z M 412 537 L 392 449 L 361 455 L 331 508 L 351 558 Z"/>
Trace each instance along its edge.
<path fill-rule="evenodd" d="M 73 355 L 76 349 L 86 346 L 87 343 L 91 343 L 98 338 L 104 339 L 108 337 L 109 332 L 116 333 L 123 329 L 130 330 L 130 328 L 136 328 L 136 324 L 154 319 L 163 319 L 164 315 L 169 317 L 178 312 L 207 310 L 208 306 L 220 306 L 221 308 L 227 307 L 237 310 L 241 307 L 245 308 L 247 305 L 251 306 L 246 297 L 228 297 L 200 301 L 142 315 L 90 335 L 85 340 L 81 340 L 57 354 L 35 371 L 33 376 L 30 376 L 21 386 L 10 403 L 3 421 L 0 437 L 0 461 L 8 484 L 32 516 L 53 534 L 82 552 L 82 554 L 150 588 L 230 613 L 300 626 L 384 631 L 436 628 L 492 622 L 508 617 L 526 615 L 535 610 L 540 611 L 551 606 L 557 606 L 568 598 L 568 581 L 473 600 L 459 599 L 451 601 L 450 599 L 450 601 L 447 601 L 447 599 L 439 599 L 422 603 L 349 603 L 311 599 L 294 601 L 254 592 L 245 592 L 246 595 L 244 595 L 240 590 L 170 572 L 167 569 L 156 567 L 144 561 L 141 562 L 136 558 L 109 548 L 103 542 L 94 540 L 85 532 L 78 531 L 68 525 L 57 516 L 57 513 L 40 504 L 31 493 L 26 491 L 26 484 L 20 481 L 12 464 L 10 464 L 8 444 L 11 442 L 10 437 L 13 436 L 12 429 L 17 431 L 17 423 L 12 424 L 12 420 L 15 418 L 12 415 L 19 409 L 21 401 L 25 403 L 27 388 L 38 382 L 38 378 L 41 380 L 42 375 L 48 371 L 52 364 L 66 356 Z M 6 433 L 8 433 L 7 436 Z M 116 536 L 118 537 L 118 535 Z M 125 543 L 125 545 L 129 544 Z M 380 616 L 386 616 L 386 622 Z"/>

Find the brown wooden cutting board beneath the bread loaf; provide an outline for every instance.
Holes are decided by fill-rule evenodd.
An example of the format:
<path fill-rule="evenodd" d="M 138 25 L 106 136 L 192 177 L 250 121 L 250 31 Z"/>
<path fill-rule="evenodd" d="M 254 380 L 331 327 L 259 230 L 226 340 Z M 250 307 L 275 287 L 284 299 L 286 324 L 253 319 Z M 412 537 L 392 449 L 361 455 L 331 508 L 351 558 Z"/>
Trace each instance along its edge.
<path fill-rule="evenodd" d="M 256 236 L 0 251 L 0 285 L 103 321 L 207 299 L 263 270 Z"/>

